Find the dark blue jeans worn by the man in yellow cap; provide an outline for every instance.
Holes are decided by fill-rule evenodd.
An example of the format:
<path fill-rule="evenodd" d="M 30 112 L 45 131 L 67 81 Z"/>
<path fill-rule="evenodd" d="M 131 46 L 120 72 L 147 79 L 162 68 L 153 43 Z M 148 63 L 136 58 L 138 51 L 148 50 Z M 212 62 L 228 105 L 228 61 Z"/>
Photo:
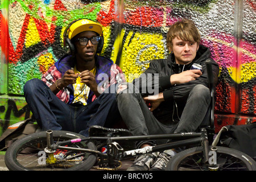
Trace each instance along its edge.
<path fill-rule="evenodd" d="M 115 93 L 102 93 L 85 106 L 71 106 L 34 78 L 24 85 L 24 96 L 42 130 L 73 131 L 88 137 L 90 126 L 112 125 L 119 115 Z"/>

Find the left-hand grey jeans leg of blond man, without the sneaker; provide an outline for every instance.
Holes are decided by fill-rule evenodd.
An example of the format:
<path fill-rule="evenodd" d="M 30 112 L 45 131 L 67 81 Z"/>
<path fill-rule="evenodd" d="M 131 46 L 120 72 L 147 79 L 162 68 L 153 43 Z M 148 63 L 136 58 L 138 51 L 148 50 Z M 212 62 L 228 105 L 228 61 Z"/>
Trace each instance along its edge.
<path fill-rule="evenodd" d="M 126 90 L 117 94 L 117 104 L 123 121 L 134 136 L 174 133 L 173 126 L 164 126 L 154 117 L 133 84 L 128 84 Z M 137 147 L 148 142 L 155 143 L 139 142 Z"/>

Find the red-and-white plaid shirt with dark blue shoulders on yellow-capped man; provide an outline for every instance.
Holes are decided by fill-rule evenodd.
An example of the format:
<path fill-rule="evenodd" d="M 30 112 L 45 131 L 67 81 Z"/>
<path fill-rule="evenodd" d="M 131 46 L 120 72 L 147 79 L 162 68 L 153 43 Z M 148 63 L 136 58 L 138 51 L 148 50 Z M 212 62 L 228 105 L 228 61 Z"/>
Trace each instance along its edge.
<path fill-rule="evenodd" d="M 65 55 L 64 57 L 61 57 L 59 61 L 57 61 L 54 65 L 52 65 L 51 68 L 48 69 L 46 73 L 44 73 L 42 76 L 42 81 L 44 81 L 47 86 L 55 84 L 56 80 L 61 78 L 68 69 L 75 66 L 73 64 L 74 63 L 71 56 Z M 108 76 L 108 80 L 97 80 L 97 76 L 102 76 L 100 75 L 101 73 L 105 73 L 103 76 Z M 125 76 L 123 75 L 121 68 L 117 64 L 114 64 L 112 60 L 96 55 L 96 82 L 103 92 L 112 84 L 125 82 Z M 66 86 L 65 88 L 61 89 L 56 96 L 61 101 L 71 104 L 74 97 L 73 86 Z M 90 91 L 88 103 L 93 102 L 95 99 L 96 95 Z"/>

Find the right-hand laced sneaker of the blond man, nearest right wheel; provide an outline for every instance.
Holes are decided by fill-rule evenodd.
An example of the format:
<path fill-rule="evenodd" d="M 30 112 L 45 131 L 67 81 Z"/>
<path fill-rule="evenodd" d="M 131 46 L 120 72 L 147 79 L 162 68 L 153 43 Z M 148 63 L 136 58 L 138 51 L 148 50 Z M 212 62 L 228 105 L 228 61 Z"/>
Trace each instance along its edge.
<path fill-rule="evenodd" d="M 176 154 L 173 150 L 163 151 L 158 155 L 150 171 L 164 171 L 169 160 Z"/>

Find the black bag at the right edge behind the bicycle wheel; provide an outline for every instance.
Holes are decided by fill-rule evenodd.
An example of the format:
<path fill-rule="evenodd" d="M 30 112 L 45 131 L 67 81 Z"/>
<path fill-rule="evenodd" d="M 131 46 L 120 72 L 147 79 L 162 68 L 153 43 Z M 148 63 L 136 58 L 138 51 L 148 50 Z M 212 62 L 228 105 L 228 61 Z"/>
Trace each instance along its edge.
<path fill-rule="evenodd" d="M 256 159 L 256 122 L 247 125 L 228 125 L 223 131 L 220 145 L 234 148 Z"/>

